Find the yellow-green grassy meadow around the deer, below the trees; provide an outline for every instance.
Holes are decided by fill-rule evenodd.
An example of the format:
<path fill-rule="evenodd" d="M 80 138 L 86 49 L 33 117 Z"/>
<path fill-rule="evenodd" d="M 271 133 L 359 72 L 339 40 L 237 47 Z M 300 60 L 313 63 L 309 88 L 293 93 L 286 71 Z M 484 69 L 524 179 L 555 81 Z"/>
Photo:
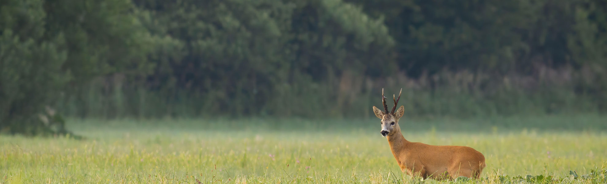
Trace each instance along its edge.
<path fill-rule="evenodd" d="M 554 177 L 548 183 L 605 183 L 607 173 L 599 173 L 607 166 L 605 120 L 439 118 L 401 127 L 410 141 L 482 152 L 483 179 L 469 183 L 534 183 L 538 175 Z M 87 139 L 0 136 L 0 183 L 416 183 L 399 170 L 375 119 L 73 119 L 70 125 Z"/>

